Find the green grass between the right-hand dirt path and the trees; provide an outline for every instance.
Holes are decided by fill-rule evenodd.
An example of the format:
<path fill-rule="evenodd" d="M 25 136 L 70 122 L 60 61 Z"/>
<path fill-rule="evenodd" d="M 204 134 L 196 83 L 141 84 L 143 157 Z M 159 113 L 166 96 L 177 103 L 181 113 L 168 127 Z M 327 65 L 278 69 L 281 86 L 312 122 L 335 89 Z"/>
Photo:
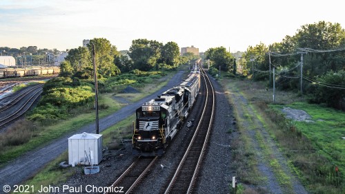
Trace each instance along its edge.
<path fill-rule="evenodd" d="M 264 82 L 235 78 L 230 81 L 224 79 L 222 83 L 230 87 L 228 94 L 241 92 L 246 96 L 248 103 L 253 105 L 250 105 L 252 109 L 256 110 L 255 114 L 259 115 L 257 118 L 278 143 L 278 149 L 286 155 L 290 171 L 299 177 L 308 192 L 344 193 L 344 112 L 323 105 L 310 105 L 303 96 L 292 91 L 277 90 L 276 102 L 273 103 L 272 91 L 266 89 Z M 315 122 L 287 120 L 281 111 L 283 107 L 302 109 Z M 245 114 L 242 112 L 242 115 Z M 248 116 L 250 114 L 246 114 L 246 118 Z M 270 162 L 272 167 L 275 164 L 274 161 Z M 339 167 L 338 186 L 335 184 L 335 166 Z M 286 182 L 284 174 L 277 174 L 281 177 L 279 182 Z"/>

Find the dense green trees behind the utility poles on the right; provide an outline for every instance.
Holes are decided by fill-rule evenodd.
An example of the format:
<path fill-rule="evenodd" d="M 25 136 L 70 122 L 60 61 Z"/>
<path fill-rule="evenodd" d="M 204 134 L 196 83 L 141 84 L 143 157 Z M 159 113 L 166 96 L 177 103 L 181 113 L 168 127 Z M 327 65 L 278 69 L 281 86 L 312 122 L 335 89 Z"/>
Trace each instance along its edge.
<path fill-rule="evenodd" d="M 211 48 L 206 58 L 213 60 L 216 68 L 231 70 L 235 65 L 231 65 L 231 60 L 235 59 L 229 54 L 224 47 Z M 237 63 L 243 67 L 244 76 L 267 80 L 269 87 L 273 86 L 275 67 L 278 89 L 304 91 L 311 103 L 345 110 L 345 30 L 339 23 L 319 21 L 302 25 L 294 36 L 285 36 L 279 43 L 249 46 Z"/>

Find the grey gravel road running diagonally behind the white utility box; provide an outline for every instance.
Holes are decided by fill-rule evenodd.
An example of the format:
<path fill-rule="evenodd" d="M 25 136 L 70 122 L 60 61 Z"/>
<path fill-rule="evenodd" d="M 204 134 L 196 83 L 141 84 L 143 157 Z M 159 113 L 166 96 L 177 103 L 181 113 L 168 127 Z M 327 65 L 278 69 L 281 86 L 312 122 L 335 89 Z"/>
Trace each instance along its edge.
<path fill-rule="evenodd" d="M 139 100 L 137 103 L 132 103 L 126 107 L 123 107 L 115 114 L 107 116 L 106 118 L 102 118 L 99 121 L 99 131 L 103 131 L 108 127 L 115 125 L 120 120 L 127 118 L 128 116 L 135 113 L 135 109 L 139 107 L 141 104 L 147 102 L 148 100 L 155 98 L 155 96 L 161 94 L 163 91 L 170 89 L 176 85 L 181 83 L 183 78 L 184 71 L 177 72 L 166 86 L 164 86 L 159 91 L 155 92 L 154 94 L 147 96 Z M 45 164 L 54 160 L 59 156 L 63 151 L 68 149 L 68 141 L 67 139 L 75 133 L 92 133 L 95 132 L 95 124 L 88 125 L 86 127 L 82 127 L 78 131 L 73 133 L 66 134 L 66 136 L 59 138 L 58 140 L 54 140 L 50 144 L 46 144 L 42 147 L 35 149 L 34 151 L 29 151 L 28 153 L 22 155 L 21 157 L 17 158 L 10 162 L 10 164 L 3 166 L 0 169 L 0 193 L 2 192 L 4 185 L 14 185 L 23 182 L 24 180 L 28 179 L 39 169 L 41 169 Z"/>

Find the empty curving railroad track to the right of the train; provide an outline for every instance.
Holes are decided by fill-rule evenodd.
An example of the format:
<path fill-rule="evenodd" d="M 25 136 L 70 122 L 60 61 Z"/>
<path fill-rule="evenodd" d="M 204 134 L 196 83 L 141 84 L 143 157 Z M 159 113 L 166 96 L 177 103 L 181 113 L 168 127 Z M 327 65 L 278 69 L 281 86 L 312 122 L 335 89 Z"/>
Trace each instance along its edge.
<path fill-rule="evenodd" d="M 195 180 L 197 179 L 206 151 L 215 111 L 215 92 L 204 71 L 203 74 L 204 80 L 206 81 L 206 105 L 204 106 L 204 111 L 195 130 L 195 134 L 175 174 L 172 176 L 165 193 L 191 193 L 196 185 Z"/>

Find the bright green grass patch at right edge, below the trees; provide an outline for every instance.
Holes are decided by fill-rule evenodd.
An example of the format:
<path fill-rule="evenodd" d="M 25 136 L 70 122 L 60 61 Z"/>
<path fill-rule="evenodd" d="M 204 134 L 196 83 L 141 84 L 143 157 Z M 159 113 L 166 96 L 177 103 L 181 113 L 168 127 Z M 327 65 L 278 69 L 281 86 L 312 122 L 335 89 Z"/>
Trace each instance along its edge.
<path fill-rule="evenodd" d="M 283 109 L 283 105 L 270 105 L 274 109 Z M 292 109 L 301 109 L 311 116 L 314 122 L 294 121 L 294 125 L 311 140 L 319 153 L 326 155 L 335 165 L 345 170 L 345 112 L 320 105 L 308 103 L 292 103 Z"/>

